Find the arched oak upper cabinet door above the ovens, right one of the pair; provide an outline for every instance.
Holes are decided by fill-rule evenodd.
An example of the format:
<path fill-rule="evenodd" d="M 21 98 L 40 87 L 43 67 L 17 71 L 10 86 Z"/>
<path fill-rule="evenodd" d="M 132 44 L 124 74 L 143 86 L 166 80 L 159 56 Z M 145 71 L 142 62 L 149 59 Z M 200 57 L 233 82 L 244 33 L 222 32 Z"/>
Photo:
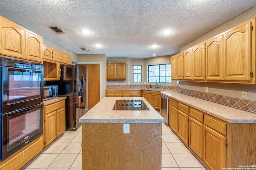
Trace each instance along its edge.
<path fill-rule="evenodd" d="M 25 59 L 42 62 L 43 38 L 25 31 Z"/>

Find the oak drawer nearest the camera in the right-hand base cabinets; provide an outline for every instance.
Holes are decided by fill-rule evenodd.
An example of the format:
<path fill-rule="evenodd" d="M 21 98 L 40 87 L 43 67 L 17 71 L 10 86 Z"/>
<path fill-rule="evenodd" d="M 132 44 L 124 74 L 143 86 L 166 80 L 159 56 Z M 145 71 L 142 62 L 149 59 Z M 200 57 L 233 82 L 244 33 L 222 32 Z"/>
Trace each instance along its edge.
<path fill-rule="evenodd" d="M 211 127 L 222 135 L 227 135 L 227 122 L 204 114 L 204 125 Z"/>

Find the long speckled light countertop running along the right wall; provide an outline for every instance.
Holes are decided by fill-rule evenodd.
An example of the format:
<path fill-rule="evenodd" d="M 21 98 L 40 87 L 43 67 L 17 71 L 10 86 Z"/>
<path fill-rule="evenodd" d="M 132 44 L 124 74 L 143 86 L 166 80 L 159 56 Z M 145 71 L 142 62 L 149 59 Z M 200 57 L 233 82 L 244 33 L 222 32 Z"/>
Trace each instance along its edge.
<path fill-rule="evenodd" d="M 181 94 L 176 90 L 160 93 L 228 123 L 256 123 L 256 113 Z"/>

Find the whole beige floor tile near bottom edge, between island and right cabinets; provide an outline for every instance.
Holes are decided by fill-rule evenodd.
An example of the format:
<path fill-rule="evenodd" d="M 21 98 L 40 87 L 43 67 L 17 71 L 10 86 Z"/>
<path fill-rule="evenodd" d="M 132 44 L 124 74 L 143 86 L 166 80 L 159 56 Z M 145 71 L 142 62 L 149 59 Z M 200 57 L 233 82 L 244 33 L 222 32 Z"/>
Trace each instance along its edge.
<path fill-rule="evenodd" d="M 173 153 L 172 156 L 180 168 L 200 168 L 199 164 L 189 153 Z"/>

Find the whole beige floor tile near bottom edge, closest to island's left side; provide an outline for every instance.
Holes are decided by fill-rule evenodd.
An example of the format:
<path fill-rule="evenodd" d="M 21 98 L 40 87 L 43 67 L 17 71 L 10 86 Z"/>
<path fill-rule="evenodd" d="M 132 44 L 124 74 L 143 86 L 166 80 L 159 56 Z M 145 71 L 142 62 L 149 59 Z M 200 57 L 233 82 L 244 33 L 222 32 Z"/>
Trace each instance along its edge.
<path fill-rule="evenodd" d="M 78 154 L 73 153 L 61 153 L 59 156 L 50 164 L 49 168 L 70 168 L 76 159 Z"/>

